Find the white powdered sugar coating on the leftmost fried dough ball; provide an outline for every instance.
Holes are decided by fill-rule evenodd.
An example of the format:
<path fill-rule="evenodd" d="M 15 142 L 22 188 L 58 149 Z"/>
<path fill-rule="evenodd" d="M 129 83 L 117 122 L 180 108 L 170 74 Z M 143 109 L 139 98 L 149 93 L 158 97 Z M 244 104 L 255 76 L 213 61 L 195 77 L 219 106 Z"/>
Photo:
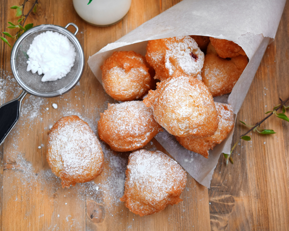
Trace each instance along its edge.
<path fill-rule="evenodd" d="M 49 159 L 62 163 L 60 174 L 81 178 L 102 164 L 99 141 L 82 120 L 58 121 L 58 129 L 49 134 L 48 149 Z"/>

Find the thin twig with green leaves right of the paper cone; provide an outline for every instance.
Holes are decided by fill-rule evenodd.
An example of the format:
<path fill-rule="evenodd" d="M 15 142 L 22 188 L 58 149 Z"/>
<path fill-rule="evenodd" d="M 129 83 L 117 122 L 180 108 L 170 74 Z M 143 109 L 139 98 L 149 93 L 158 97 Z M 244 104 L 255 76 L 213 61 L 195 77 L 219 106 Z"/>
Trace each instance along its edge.
<path fill-rule="evenodd" d="M 280 99 L 280 98 L 279 98 Z M 270 116 L 272 115 L 275 115 L 277 116 L 278 118 L 282 119 L 282 120 L 285 120 L 287 122 L 289 122 L 289 118 L 284 114 L 286 112 L 286 109 L 289 108 L 289 105 L 288 106 L 285 106 L 285 103 L 287 103 L 287 101 L 289 101 L 289 97 L 282 101 L 280 99 L 281 103 L 278 104 L 276 107 L 273 108 L 273 111 L 267 111 L 265 114 L 268 114 L 270 113 L 268 116 L 266 116 L 263 120 L 261 120 L 260 122 L 257 122 L 255 125 L 248 125 L 248 124 L 245 124 L 243 121 L 240 121 L 242 124 L 244 124 L 245 126 L 247 127 L 251 127 L 246 133 L 244 133 L 243 135 L 240 136 L 240 139 L 233 145 L 233 147 L 231 148 L 231 151 L 230 151 L 230 154 L 226 154 L 226 153 L 223 153 L 224 157 L 226 158 L 226 164 L 228 164 L 228 162 L 230 161 L 232 164 L 234 163 L 232 157 L 231 157 L 231 154 L 233 152 L 233 150 L 236 148 L 237 144 L 239 143 L 239 141 L 241 139 L 245 140 L 245 141 L 249 141 L 251 140 L 251 137 L 247 136 L 247 134 L 251 131 L 253 132 L 257 132 L 258 134 L 261 134 L 261 135 L 269 135 L 269 134 L 275 134 L 275 132 L 273 130 L 269 130 L 269 129 L 261 129 L 260 128 L 260 124 L 262 124 L 265 120 L 267 120 Z M 279 109 L 282 109 L 282 113 L 277 113 L 277 111 Z"/>

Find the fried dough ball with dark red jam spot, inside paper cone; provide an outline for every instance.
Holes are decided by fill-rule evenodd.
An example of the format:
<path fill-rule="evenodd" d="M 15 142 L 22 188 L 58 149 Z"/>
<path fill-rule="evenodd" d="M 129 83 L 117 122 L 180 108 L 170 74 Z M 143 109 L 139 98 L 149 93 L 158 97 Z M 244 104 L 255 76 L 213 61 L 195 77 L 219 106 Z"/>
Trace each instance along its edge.
<path fill-rule="evenodd" d="M 204 53 L 190 36 L 150 40 L 145 55 L 155 69 L 155 79 L 165 80 L 179 69 L 190 76 L 197 76 L 203 67 Z"/>

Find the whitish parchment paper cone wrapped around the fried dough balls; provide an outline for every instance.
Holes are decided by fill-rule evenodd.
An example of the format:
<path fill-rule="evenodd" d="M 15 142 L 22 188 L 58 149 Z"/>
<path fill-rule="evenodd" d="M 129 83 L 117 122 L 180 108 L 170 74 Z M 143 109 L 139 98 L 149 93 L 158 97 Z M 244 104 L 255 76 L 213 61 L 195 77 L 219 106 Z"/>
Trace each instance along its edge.
<path fill-rule="evenodd" d="M 228 95 L 215 97 L 216 102 L 229 103 L 237 114 L 249 90 L 269 42 L 273 41 L 284 9 L 285 0 L 213 1 L 184 0 L 143 23 L 114 43 L 108 44 L 88 59 L 88 65 L 101 83 L 105 59 L 114 51 L 146 53 L 148 40 L 184 35 L 222 38 L 239 44 L 249 57 L 249 63 Z M 236 118 L 236 116 L 235 116 Z M 200 184 L 210 187 L 214 168 L 222 152 L 229 153 L 234 131 L 217 145 L 205 159 L 182 147 L 167 131 L 155 139 Z"/>

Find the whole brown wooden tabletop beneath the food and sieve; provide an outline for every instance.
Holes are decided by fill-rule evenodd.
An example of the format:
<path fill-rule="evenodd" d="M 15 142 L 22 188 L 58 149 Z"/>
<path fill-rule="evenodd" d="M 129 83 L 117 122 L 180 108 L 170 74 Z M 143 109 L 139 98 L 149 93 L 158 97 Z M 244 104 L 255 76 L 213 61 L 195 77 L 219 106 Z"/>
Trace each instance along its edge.
<path fill-rule="evenodd" d="M 77 24 L 77 38 L 87 60 L 106 44 L 177 2 L 132 0 L 123 21 L 101 28 L 82 21 L 71 0 L 40 0 L 37 13 L 29 16 L 27 23 Z M 5 27 L 8 21 L 16 22 L 15 11 L 10 7 L 17 4 L 16 0 L 1 0 L 0 31 L 13 33 Z M 237 121 L 254 124 L 279 103 L 279 97 L 288 97 L 288 25 L 289 3 Z M 12 77 L 10 47 L 1 42 L 0 49 L 3 104 L 16 98 L 21 88 Z M 233 154 L 234 165 L 226 166 L 221 156 L 210 189 L 188 175 L 181 194 L 183 202 L 168 206 L 161 213 L 139 217 L 118 201 L 129 153 L 112 152 L 105 144 L 102 146 L 106 162 L 101 176 L 94 182 L 62 189 L 59 178 L 51 173 L 46 162 L 49 128 L 62 116 L 75 114 L 97 132 L 99 113 L 113 102 L 87 64 L 80 84 L 64 96 L 50 99 L 26 96 L 18 124 L 0 146 L 1 230 L 289 230 L 289 123 L 273 116 L 263 126 L 276 134 L 254 133 L 252 142 L 242 141 Z M 58 104 L 58 109 L 53 109 L 52 103 Z M 234 142 L 245 131 L 244 126 L 237 124 Z M 145 148 L 165 152 L 154 139 Z"/>

